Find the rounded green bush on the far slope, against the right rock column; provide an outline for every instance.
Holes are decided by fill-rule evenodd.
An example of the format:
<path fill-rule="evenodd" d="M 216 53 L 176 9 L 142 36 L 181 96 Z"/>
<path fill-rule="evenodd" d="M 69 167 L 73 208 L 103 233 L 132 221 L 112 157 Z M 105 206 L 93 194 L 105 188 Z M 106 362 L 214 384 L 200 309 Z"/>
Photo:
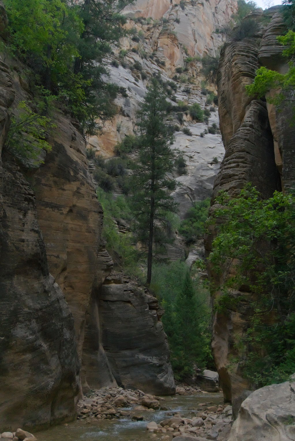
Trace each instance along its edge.
<path fill-rule="evenodd" d="M 193 202 L 193 206 L 185 214 L 179 227 L 179 233 L 185 238 L 187 245 L 195 243 L 204 235 L 204 224 L 208 218 L 210 199 Z"/>

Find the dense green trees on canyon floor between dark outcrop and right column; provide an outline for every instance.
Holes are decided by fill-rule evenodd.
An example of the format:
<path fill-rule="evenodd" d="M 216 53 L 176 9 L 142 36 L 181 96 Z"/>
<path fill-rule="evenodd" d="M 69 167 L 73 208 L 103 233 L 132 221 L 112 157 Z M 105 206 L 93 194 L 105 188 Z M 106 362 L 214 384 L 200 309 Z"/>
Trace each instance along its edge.
<path fill-rule="evenodd" d="M 155 265 L 151 290 L 165 310 L 162 321 L 176 380 L 191 377 L 195 367 L 210 368 L 208 292 L 199 280 L 192 280 L 184 262 Z"/>

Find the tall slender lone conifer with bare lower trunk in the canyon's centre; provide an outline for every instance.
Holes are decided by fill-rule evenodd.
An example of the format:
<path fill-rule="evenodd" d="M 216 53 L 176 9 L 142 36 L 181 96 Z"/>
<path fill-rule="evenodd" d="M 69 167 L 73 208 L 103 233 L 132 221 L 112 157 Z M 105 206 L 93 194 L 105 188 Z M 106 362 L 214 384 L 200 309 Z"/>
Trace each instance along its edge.
<path fill-rule="evenodd" d="M 171 148 L 174 136 L 165 123 L 167 105 L 163 87 L 154 78 L 138 112 L 138 158 L 132 177 L 137 237 L 147 247 L 147 285 L 155 247 L 159 254 L 169 241 L 165 232 L 169 213 L 178 207 L 170 196 L 176 187 L 170 173 L 178 152 Z"/>

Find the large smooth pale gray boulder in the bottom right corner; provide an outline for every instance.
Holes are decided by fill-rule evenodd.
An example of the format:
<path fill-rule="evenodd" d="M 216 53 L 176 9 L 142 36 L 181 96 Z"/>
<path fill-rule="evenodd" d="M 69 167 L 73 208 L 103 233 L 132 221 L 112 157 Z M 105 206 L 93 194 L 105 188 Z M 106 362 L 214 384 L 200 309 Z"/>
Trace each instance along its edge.
<path fill-rule="evenodd" d="M 295 381 L 265 386 L 242 402 L 228 441 L 295 440 Z"/>

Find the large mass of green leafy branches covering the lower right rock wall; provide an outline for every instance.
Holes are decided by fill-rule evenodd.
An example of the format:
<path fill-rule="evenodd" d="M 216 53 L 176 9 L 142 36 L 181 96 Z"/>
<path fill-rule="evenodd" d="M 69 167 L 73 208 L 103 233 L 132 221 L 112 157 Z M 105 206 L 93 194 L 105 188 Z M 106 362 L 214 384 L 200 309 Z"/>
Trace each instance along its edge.
<path fill-rule="evenodd" d="M 241 368 L 253 388 L 284 381 L 295 371 L 295 198 L 275 192 L 264 200 L 246 186 L 238 198 L 216 199 L 218 234 L 210 262 L 225 274 L 217 303 L 234 309 L 238 290 L 252 292 L 249 328 L 239 343 Z M 212 221 L 214 221 L 212 220 Z M 230 273 L 229 273 L 230 271 Z"/>

